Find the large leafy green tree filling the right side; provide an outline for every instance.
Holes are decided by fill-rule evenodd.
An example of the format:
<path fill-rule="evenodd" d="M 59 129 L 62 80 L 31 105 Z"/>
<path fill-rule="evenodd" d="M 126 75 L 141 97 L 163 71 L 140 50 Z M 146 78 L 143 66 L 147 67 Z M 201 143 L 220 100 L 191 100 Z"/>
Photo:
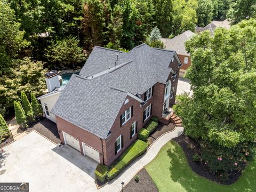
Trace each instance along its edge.
<path fill-rule="evenodd" d="M 186 134 L 203 145 L 210 168 L 225 174 L 242 169 L 256 139 L 255 39 L 256 20 L 251 19 L 186 42 L 193 96 L 181 95 L 175 110 Z"/>

